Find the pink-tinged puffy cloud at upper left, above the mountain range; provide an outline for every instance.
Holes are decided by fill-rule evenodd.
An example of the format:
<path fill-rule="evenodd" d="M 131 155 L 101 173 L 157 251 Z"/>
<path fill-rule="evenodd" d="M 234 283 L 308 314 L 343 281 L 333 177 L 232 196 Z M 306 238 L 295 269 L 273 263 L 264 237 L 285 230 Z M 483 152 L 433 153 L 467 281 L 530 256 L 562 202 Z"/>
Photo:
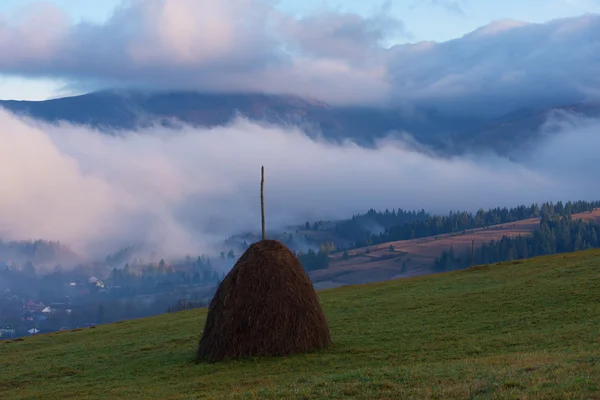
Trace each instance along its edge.
<path fill-rule="evenodd" d="M 41 22 L 46 15 L 51 24 Z M 388 90 L 378 43 L 404 29 L 383 11 L 295 18 L 267 0 L 129 0 L 102 25 L 65 19 L 48 4 L 0 24 L 0 54 L 6 54 L 0 72 L 64 77 L 89 89 L 196 88 L 372 102 Z"/>

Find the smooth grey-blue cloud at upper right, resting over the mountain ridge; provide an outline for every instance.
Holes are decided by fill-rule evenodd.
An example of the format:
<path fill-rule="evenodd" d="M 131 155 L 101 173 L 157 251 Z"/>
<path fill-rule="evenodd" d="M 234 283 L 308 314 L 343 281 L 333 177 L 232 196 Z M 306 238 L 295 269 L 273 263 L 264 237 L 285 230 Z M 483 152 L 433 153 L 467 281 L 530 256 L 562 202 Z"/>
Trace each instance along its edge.
<path fill-rule="evenodd" d="M 600 15 L 494 21 L 461 38 L 391 49 L 395 99 L 498 116 L 600 98 Z"/>

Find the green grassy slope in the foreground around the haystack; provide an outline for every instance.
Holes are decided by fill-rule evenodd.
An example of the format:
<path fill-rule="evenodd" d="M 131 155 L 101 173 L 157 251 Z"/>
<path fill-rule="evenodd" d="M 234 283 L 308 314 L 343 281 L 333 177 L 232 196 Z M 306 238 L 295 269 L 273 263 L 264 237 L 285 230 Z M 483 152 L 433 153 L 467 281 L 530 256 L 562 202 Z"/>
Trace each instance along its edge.
<path fill-rule="evenodd" d="M 600 251 L 320 293 L 334 345 L 192 362 L 206 310 L 0 342 L 0 399 L 600 398 Z"/>

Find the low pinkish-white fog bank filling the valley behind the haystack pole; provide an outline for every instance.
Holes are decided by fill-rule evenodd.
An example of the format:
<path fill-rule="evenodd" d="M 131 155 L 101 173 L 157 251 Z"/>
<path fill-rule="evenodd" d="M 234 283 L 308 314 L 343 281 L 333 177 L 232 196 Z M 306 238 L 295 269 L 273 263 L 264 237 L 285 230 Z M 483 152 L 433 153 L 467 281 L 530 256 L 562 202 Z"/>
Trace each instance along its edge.
<path fill-rule="evenodd" d="M 230 234 L 259 230 L 261 165 L 268 229 L 371 207 L 447 212 L 598 199 L 600 120 L 561 121 L 516 163 L 440 159 L 394 140 L 336 145 L 244 119 L 108 136 L 0 110 L 0 238 L 60 240 L 96 256 L 138 243 L 165 256 L 210 252 Z"/>

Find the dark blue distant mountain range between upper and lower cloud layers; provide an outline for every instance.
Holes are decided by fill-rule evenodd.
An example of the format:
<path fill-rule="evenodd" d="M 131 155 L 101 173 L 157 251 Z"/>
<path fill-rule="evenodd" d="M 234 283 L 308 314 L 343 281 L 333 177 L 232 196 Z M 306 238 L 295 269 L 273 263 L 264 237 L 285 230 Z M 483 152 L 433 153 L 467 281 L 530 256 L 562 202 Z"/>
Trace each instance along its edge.
<path fill-rule="evenodd" d="M 410 133 L 418 142 L 444 153 L 488 148 L 499 153 L 535 139 L 548 109 L 515 110 L 498 119 L 444 115 L 433 109 L 337 107 L 297 96 L 208 94 L 197 92 L 101 91 L 46 101 L 0 101 L 20 115 L 91 125 L 101 130 L 136 129 L 159 123 L 199 127 L 224 125 L 236 115 L 251 120 L 300 126 L 307 134 L 330 140 L 351 139 L 372 146 L 389 134 Z M 562 109 L 600 116 L 600 104 Z"/>

